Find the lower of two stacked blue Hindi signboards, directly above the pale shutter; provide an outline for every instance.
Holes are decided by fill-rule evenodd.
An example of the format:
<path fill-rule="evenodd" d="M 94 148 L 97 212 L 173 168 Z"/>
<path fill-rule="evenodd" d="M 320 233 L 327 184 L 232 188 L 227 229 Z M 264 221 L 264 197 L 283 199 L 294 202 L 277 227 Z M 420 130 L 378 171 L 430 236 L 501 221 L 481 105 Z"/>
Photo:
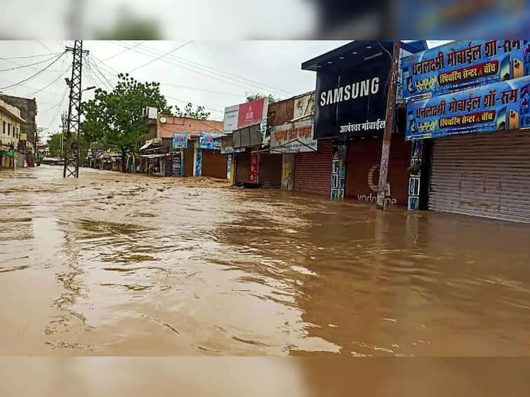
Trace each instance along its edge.
<path fill-rule="evenodd" d="M 530 128 L 530 76 L 410 102 L 406 140 Z"/>

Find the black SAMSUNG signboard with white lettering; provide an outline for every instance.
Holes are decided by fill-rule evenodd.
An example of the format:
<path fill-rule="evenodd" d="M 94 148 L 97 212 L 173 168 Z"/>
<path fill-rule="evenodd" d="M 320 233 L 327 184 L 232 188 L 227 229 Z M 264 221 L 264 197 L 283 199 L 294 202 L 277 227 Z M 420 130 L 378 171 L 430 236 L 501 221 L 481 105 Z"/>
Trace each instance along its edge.
<path fill-rule="evenodd" d="M 357 65 L 317 72 L 314 139 L 383 133 L 392 45 L 386 49 Z"/>

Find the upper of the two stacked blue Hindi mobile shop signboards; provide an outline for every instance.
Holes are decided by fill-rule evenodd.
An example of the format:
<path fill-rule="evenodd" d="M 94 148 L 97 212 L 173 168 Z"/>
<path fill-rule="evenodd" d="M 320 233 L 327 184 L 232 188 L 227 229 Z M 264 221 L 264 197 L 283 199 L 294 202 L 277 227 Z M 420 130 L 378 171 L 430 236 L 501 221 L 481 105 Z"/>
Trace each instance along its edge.
<path fill-rule="evenodd" d="M 425 100 L 528 75 L 528 40 L 453 41 L 403 58 L 403 97 Z"/>

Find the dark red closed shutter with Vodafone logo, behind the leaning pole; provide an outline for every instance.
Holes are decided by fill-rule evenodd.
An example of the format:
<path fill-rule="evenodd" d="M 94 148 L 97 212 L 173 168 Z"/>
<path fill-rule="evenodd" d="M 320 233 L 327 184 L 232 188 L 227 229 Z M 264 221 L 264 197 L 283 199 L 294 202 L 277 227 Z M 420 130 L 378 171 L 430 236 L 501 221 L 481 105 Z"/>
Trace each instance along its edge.
<path fill-rule="evenodd" d="M 346 198 L 376 202 L 382 147 L 381 138 L 350 142 L 347 152 Z M 387 180 L 390 183 L 390 198 L 394 198 L 399 206 L 406 206 L 410 158 L 411 142 L 406 142 L 403 135 L 392 135 Z"/>

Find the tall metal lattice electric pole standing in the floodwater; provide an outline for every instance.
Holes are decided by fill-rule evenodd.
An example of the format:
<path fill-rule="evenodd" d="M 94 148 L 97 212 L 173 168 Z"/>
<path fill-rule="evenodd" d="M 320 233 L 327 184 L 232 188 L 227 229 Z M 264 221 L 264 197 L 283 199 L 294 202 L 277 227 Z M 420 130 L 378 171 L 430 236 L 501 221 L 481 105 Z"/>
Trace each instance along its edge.
<path fill-rule="evenodd" d="M 83 55 L 88 51 L 83 49 L 83 41 L 74 41 L 74 47 L 67 47 L 66 51 L 72 51 L 72 79 L 67 79 L 70 87 L 68 105 L 68 116 L 63 144 L 62 156 L 65 168 L 62 177 L 79 177 L 79 121 L 81 119 L 81 71 L 83 66 Z"/>

